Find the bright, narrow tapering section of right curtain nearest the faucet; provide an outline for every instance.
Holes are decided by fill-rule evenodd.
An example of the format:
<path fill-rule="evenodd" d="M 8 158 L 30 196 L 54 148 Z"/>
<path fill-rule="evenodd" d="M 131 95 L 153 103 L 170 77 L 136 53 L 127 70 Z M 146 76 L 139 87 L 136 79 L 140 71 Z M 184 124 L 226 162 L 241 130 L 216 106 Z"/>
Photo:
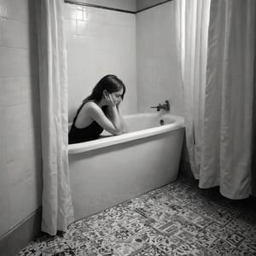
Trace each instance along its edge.
<path fill-rule="evenodd" d="M 210 0 L 176 0 L 177 53 L 183 80 L 186 144 L 195 178 L 200 177 L 207 73 Z"/>

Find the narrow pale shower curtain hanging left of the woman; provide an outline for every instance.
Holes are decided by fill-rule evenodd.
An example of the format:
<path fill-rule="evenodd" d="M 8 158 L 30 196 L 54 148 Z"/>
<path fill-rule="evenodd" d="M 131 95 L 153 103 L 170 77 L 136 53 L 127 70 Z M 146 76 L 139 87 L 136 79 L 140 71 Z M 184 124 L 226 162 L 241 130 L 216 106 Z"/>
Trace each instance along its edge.
<path fill-rule="evenodd" d="M 63 2 L 38 0 L 38 63 L 43 152 L 42 231 L 55 236 L 73 222 L 67 162 L 67 56 Z"/>

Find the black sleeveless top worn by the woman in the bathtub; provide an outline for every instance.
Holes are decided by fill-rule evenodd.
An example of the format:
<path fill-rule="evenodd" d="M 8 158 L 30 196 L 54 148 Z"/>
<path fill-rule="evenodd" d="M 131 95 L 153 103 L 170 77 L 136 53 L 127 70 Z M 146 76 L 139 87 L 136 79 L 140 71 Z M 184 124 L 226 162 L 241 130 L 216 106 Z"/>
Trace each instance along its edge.
<path fill-rule="evenodd" d="M 84 104 L 87 102 L 84 102 L 82 106 L 79 108 L 78 112 L 76 113 L 73 124 L 71 126 L 71 129 L 68 133 L 68 144 L 73 143 L 84 143 L 91 140 L 95 140 L 100 136 L 100 134 L 103 131 L 103 128 L 101 125 L 98 125 L 96 121 L 93 121 L 90 125 L 84 127 L 84 128 L 77 128 L 75 125 L 76 119 L 78 118 L 78 115 L 81 111 L 81 109 L 84 107 Z"/>

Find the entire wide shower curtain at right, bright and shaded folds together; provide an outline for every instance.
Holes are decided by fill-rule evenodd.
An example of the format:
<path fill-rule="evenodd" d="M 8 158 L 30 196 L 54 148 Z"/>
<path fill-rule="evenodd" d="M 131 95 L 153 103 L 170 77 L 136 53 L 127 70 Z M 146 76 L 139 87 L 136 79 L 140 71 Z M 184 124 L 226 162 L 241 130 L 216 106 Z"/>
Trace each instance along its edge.
<path fill-rule="evenodd" d="M 199 187 L 251 193 L 254 0 L 178 0 L 186 142 Z"/>

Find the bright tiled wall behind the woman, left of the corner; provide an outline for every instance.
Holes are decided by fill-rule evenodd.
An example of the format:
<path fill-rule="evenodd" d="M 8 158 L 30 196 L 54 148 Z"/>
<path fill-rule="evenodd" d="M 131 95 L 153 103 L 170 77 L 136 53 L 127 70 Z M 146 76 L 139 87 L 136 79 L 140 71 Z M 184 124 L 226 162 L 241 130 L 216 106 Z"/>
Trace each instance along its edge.
<path fill-rule="evenodd" d="M 136 16 L 69 3 L 65 9 L 69 121 L 108 73 L 126 85 L 122 113 L 136 113 Z"/>

